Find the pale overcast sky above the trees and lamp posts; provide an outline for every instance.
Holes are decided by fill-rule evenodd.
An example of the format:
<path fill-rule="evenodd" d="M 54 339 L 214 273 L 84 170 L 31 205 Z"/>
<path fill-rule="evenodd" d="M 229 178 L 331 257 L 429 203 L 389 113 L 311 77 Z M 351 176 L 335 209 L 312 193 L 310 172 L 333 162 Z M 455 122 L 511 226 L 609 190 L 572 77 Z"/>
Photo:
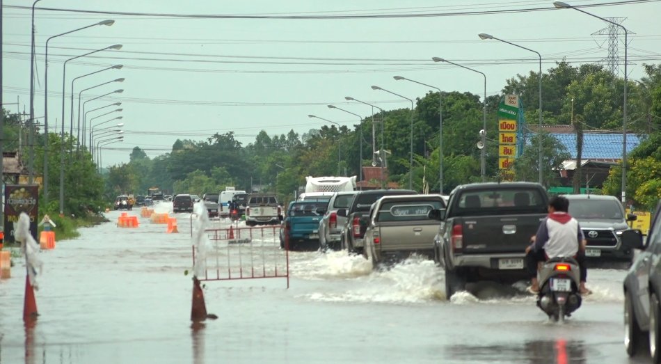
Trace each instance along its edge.
<path fill-rule="evenodd" d="M 573 6 L 599 17 L 621 17 L 630 32 L 629 77 L 644 76 L 644 63 L 661 60 L 660 1 L 574 0 Z M 3 102 L 16 102 L 29 113 L 29 45 L 33 1 L 3 1 Z M 606 4 L 605 6 L 590 6 Z M 121 94 L 86 102 L 96 129 L 123 122 L 124 141 L 104 147 L 104 166 L 129 161 L 138 146 L 149 157 L 169 152 L 177 139 L 202 141 L 233 131 L 247 145 L 260 130 L 270 136 L 290 129 L 303 134 L 326 123 L 314 114 L 354 125 L 372 108 L 347 102 L 345 96 L 385 110 L 411 107 L 432 88 L 483 95 L 481 74 L 434 63 L 433 56 L 486 74 L 486 93 L 500 93 L 506 79 L 539 70 L 533 52 L 478 33 L 533 49 L 542 69 L 566 59 L 575 66 L 605 60 L 608 24 L 573 9 L 555 9 L 552 1 L 362 0 L 362 1 L 180 1 L 180 0 L 41 0 L 35 11 L 35 117 L 42 122 L 45 93 L 45 43 L 60 33 L 114 19 L 51 39 L 48 47 L 49 129 L 61 127 L 63 63 L 67 63 L 65 131 L 70 128 L 74 83 L 74 134 L 77 97 L 82 102 L 114 90 Z M 75 10 L 75 11 L 61 11 Z M 519 10 L 519 11 L 516 11 Z M 99 12 L 111 12 L 99 13 Z M 192 15 L 175 17 L 172 15 Z M 603 35 L 598 33 L 605 29 Z M 597 33 L 597 34 L 596 34 Z M 619 36 L 623 74 L 624 36 Z M 123 83 L 106 82 L 125 78 Z M 122 102 L 121 106 L 108 106 Z M 523 100 L 536 104 L 537 100 Z M 104 107 L 107 106 L 107 107 Z M 113 112 L 117 108 L 123 111 Z M 16 105 L 6 105 L 10 111 Z M 106 116 L 104 113 L 111 112 Z M 122 116 L 122 120 L 113 120 Z M 106 122 L 107 121 L 107 122 Z M 97 139 L 106 139 L 108 134 Z M 476 131 L 477 135 L 477 131 Z"/>

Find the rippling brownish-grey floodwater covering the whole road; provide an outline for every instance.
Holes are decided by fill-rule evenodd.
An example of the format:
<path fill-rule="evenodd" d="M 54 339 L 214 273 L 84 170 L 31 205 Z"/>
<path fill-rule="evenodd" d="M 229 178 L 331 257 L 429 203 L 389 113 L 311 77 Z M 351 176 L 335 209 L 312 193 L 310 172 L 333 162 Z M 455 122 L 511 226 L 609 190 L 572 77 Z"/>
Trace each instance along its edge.
<path fill-rule="evenodd" d="M 629 359 L 623 347 L 626 271 L 618 269 L 591 269 L 594 294 L 554 324 L 520 293 L 524 283 L 477 285 L 447 300 L 443 273 L 429 260 L 372 271 L 360 256 L 291 252 L 289 289 L 286 278 L 202 281 L 218 319 L 193 324 L 195 221 L 171 214 L 169 203 L 154 208 L 170 211 L 179 233 L 142 217 L 138 228 L 119 228 L 113 211 L 110 223 L 41 251 L 32 327 L 22 321 L 24 260 L 15 259 L 12 278 L 0 280 L 0 364 L 648 361 Z M 249 243 L 207 242 L 207 278 L 286 273 L 278 230 L 264 231 Z"/>

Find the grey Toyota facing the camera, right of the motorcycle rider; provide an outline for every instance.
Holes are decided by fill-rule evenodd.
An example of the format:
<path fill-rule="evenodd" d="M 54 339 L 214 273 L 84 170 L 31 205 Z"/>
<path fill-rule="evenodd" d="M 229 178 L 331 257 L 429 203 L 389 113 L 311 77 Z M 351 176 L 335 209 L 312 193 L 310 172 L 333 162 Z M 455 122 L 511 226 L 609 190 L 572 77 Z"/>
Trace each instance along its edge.
<path fill-rule="evenodd" d="M 585 256 L 591 260 L 608 258 L 631 261 L 633 251 L 621 242 L 628 222 L 637 216 L 625 214 L 622 203 L 615 196 L 566 195 L 569 214 L 578 220 L 587 240 Z"/>

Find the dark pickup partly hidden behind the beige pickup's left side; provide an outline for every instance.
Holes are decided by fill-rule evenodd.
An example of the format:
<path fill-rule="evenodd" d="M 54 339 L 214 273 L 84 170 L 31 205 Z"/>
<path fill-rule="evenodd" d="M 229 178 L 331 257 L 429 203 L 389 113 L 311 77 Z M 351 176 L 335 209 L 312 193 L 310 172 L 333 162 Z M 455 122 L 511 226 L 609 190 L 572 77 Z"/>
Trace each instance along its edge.
<path fill-rule="evenodd" d="M 353 196 L 351 205 L 337 209 L 337 216 L 347 218 L 340 233 L 340 246 L 349 253 L 363 254 L 363 235 L 367 230 L 367 219 L 372 204 L 383 196 L 415 195 L 417 192 L 408 189 L 372 189 L 358 191 Z"/>

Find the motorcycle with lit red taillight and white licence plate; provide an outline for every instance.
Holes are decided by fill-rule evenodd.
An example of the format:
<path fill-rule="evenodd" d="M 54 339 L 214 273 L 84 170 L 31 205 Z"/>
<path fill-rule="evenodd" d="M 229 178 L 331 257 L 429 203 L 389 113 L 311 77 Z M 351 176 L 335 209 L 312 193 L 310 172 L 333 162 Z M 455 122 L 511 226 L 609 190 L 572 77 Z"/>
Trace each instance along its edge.
<path fill-rule="evenodd" d="M 571 257 L 551 258 L 538 275 L 537 306 L 553 321 L 564 322 L 565 317 L 570 317 L 581 306 L 578 262 Z"/>

